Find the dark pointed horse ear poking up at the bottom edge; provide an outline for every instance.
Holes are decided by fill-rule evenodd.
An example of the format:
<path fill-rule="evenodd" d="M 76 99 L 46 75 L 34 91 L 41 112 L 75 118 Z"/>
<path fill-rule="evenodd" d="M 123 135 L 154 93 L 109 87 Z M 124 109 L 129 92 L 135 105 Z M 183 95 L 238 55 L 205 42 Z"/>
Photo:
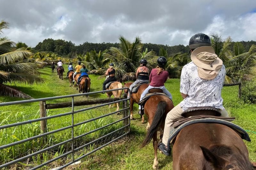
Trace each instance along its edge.
<path fill-rule="evenodd" d="M 204 154 L 204 158 L 214 166 L 214 168 L 219 169 L 225 165 L 225 160 L 220 158 L 219 156 L 213 154 L 209 149 L 204 146 L 199 145 Z"/>

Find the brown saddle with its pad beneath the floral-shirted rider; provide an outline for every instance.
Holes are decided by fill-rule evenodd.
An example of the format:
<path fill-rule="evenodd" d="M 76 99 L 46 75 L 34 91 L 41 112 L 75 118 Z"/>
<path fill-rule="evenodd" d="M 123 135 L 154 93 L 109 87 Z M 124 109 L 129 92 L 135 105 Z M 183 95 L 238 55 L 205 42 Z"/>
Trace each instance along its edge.
<path fill-rule="evenodd" d="M 174 121 L 172 124 L 172 130 L 169 134 L 168 145 L 174 143 L 176 136 L 179 134 L 181 129 L 196 123 L 215 123 L 223 124 L 232 128 L 236 133 L 244 140 L 251 141 L 247 132 L 240 126 L 231 123 L 235 120 L 235 117 L 220 117 L 220 111 L 212 107 L 196 107 L 184 110 L 181 116 L 185 116 Z"/>

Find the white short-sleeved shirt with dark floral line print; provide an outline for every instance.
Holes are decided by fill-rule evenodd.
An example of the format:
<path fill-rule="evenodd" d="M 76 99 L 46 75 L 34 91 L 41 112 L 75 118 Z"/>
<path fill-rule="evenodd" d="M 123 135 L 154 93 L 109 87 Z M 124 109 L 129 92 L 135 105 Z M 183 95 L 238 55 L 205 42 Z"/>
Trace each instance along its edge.
<path fill-rule="evenodd" d="M 191 61 L 181 71 L 180 92 L 188 96 L 180 103 L 182 110 L 190 107 L 214 107 L 224 109 L 221 89 L 225 81 L 226 70 L 222 65 L 219 74 L 212 80 L 198 76 L 197 66 Z"/>

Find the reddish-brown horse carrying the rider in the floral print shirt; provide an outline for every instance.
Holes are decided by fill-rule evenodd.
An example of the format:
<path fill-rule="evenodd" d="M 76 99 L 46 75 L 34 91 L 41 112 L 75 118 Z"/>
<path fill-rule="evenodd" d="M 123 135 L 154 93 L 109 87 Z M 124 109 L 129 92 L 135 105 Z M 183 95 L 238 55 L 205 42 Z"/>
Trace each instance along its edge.
<path fill-rule="evenodd" d="M 173 169 L 252 170 L 244 141 L 222 124 L 184 127 L 172 149 Z"/>

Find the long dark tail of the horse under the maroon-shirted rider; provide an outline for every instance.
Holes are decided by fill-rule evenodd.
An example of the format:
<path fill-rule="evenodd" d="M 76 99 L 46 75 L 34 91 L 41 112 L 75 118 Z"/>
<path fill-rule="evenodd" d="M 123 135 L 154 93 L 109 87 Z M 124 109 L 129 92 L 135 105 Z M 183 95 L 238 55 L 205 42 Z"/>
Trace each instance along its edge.
<path fill-rule="evenodd" d="M 150 140 L 153 138 L 154 133 L 157 132 L 159 125 L 163 121 L 164 113 L 165 113 L 165 107 L 166 107 L 165 101 L 160 101 L 157 105 L 156 113 L 154 116 L 154 120 L 152 124 L 150 125 L 150 128 L 148 129 L 148 133 L 144 141 L 142 142 L 140 148 L 144 147 L 145 145 L 148 145 Z"/>

